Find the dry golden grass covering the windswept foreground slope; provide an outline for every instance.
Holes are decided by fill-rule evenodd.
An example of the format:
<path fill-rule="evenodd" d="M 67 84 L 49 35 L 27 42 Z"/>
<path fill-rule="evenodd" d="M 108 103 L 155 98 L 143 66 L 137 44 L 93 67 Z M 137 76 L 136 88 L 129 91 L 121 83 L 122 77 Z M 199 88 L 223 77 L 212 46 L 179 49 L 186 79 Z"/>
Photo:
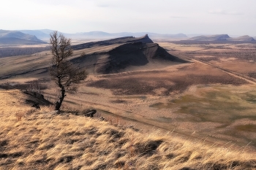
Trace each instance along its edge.
<path fill-rule="evenodd" d="M 18 90 L 0 90 L 0 169 L 256 169 L 246 148 L 38 111 L 23 98 Z"/>

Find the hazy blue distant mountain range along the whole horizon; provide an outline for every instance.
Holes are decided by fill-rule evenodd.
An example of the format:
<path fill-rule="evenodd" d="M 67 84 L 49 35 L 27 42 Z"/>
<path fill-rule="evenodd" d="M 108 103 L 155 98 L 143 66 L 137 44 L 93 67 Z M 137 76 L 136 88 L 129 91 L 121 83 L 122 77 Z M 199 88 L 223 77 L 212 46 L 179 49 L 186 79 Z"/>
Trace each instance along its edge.
<path fill-rule="evenodd" d="M 50 39 L 50 33 L 53 30 L 50 29 L 40 29 L 40 30 L 17 30 L 17 31 L 7 31 L 0 29 L 0 45 L 38 45 L 45 44 Z M 236 41 L 236 42 L 254 42 L 256 37 L 252 36 L 239 36 L 232 38 L 227 34 L 217 34 L 217 35 L 200 35 L 189 38 L 185 34 L 157 34 L 148 32 L 120 32 L 120 33 L 107 33 L 103 31 L 90 31 L 90 32 L 80 32 L 76 34 L 62 33 L 67 38 L 71 39 L 114 39 L 118 37 L 126 36 L 143 36 L 148 34 L 151 39 L 172 39 L 172 40 L 182 40 L 182 41 Z M 190 35 L 191 37 L 191 35 Z M 42 41 L 42 40 L 44 41 Z"/>

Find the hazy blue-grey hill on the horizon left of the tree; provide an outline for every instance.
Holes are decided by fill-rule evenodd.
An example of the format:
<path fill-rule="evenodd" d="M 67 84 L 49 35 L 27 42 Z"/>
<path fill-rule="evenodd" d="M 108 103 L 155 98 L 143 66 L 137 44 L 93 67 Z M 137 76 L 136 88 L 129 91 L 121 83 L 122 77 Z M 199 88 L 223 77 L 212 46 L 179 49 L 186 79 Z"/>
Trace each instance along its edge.
<path fill-rule="evenodd" d="M 1 45 L 39 45 L 45 43 L 34 35 L 24 34 L 20 31 L 0 30 Z"/>

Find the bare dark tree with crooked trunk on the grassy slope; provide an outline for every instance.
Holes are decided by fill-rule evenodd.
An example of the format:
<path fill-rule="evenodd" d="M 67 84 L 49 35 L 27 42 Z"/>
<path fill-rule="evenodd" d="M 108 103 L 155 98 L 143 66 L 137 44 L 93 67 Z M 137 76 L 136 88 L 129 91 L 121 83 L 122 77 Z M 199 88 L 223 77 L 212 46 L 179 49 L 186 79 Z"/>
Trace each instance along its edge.
<path fill-rule="evenodd" d="M 81 80 L 85 80 L 87 73 L 84 69 L 80 69 L 70 62 L 68 58 L 72 55 L 71 39 L 67 39 L 63 34 L 58 31 L 53 31 L 50 34 L 50 49 L 53 54 L 52 63 L 50 67 L 50 76 L 61 88 L 61 96 L 59 101 L 55 103 L 55 109 L 59 110 L 66 96 L 67 90 L 75 90 L 75 84 Z"/>

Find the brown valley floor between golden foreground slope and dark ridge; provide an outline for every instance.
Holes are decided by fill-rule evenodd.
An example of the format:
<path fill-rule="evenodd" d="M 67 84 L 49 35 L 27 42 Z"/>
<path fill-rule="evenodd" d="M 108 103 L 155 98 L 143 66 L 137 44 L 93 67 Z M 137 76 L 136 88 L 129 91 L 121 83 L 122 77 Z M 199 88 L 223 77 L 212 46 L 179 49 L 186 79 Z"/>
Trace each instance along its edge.
<path fill-rule="evenodd" d="M 78 93 L 67 95 L 64 107 L 94 108 L 100 116 L 123 124 L 160 128 L 209 143 L 248 144 L 255 150 L 256 90 L 246 80 L 203 63 L 187 63 L 90 76 L 86 81 Z M 58 93 L 53 89 L 44 90 L 50 101 Z"/>

